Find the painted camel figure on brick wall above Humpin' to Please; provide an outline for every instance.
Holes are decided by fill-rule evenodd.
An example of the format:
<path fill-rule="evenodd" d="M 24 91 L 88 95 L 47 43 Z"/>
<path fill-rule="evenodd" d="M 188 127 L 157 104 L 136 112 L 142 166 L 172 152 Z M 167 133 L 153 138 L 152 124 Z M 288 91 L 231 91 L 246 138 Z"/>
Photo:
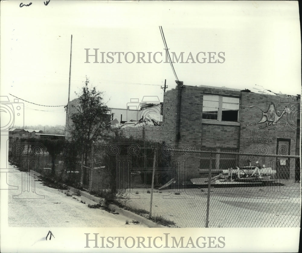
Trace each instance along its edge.
<path fill-rule="evenodd" d="M 262 117 L 261 119 L 257 122 L 257 123 L 250 123 L 247 126 L 255 126 L 258 124 L 262 124 L 264 123 L 265 126 L 261 126 L 258 129 L 262 129 L 267 127 L 267 129 L 272 129 L 269 128 L 269 126 L 276 126 L 277 122 L 282 118 L 282 116 L 284 115 L 284 113 L 290 113 L 290 109 L 288 107 L 285 107 L 284 110 L 282 111 L 282 113 L 280 114 L 280 116 L 278 116 L 277 111 L 276 111 L 276 107 L 275 104 L 273 102 L 271 102 L 268 106 L 268 110 L 265 112 L 263 111 L 260 107 L 258 106 L 249 106 L 249 108 L 253 108 L 253 107 L 257 107 L 261 110 L 262 112 Z M 287 123 L 279 123 L 283 126 L 285 126 Z M 275 129 L 276 127 L 273 127 L 273 129 Z"/>

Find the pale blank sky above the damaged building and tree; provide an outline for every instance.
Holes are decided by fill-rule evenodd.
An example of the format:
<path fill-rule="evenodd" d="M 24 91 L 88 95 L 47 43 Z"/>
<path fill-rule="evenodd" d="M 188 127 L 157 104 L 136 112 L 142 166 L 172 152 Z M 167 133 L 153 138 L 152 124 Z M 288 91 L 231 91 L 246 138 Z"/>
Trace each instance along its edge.
<path fill-rule="evenodd" d="M 162 102 L 161 86 L 166 80 L 168 90 L 175 88 L 176 77 L 165 62 L 159 26 L 171 56 L 183 52 L 183 62 L 174 61 L 173 66 L 184 85 L 245 89 L 258 84 L 276 93 L 301 93 L 295 1 L 31 2 L 22 7 L 21 1 L 1 2 L 0 92 L 11 102 L 20 98 L 14 108 L 24 106 L 12 125 L 65 124 L 71 35 L 70 100 L 80 93 L 87 76 L 104 92 L 108 107 L 127 108 L 131 99 L 142 101 L 144 96 L 157 96 Z M 104 63 L 94 63 L 93 56 L 87 63 L 85 48 L 89 54 L 98 49 L 98 62 L 104 52 Z M 109 63 L 108 52 L 130 53 L 126 58 L 121 53 L 120 63 L 116 54 Z M 146 63 L 137 63 L 137 52 L 146 55 Z M 155 57 L 161 63 L 153 59 L 156 52 L 162 53 Z M 204 63 L 196 59 L 199 52 L 205 52 L 197 57 L 200 62 L 206 58 Z M 135 61 L 127 63 L 132 53 Z M 190 54 L 193 60 L 187 61 Z"/>

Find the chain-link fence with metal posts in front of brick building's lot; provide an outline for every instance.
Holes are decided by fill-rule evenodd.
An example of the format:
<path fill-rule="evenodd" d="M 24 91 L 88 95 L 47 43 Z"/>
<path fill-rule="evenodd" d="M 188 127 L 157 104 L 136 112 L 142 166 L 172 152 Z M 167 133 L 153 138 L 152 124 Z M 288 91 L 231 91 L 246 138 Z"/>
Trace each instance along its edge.
<path fill-rule="evenodd" d="M 170 227 L 300 227 L 298 156 L 189 144 L 93 150 L 90 191 Z"/>

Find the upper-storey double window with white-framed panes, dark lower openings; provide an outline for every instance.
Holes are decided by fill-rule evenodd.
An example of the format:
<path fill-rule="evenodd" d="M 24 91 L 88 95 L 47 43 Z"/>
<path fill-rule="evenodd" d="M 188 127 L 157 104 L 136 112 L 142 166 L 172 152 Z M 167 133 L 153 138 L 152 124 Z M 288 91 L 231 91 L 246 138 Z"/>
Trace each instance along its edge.
<path fill-rule="evenodd" d="M 239 98 L 204 95 L 202 119 L 238 122 Z"/>

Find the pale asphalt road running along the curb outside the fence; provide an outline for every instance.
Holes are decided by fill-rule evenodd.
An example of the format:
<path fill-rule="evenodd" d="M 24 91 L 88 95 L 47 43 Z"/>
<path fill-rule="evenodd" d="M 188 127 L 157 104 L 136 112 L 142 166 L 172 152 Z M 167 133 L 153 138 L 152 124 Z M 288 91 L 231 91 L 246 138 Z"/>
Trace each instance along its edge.
<path fill-rule="evenodd" d="M 19 172 L 17 169 L 12 169 L 11 172 L 15 173 L 7 173 L 8 184 L 18 186 L 18 189 L 8 190 L 8 226 L 147 227 L 141 223 L 132 223 L 132 220 L 124 215 L 88 208 L 88 204 L 95 204 L 95 202 L 84 197 L 67 196 L 66 191 L 43 186 L 40 181 L 32 181 L 28 173 Z M 35 183 L 35 192 L 39 195 L 21 194 L 13 198 L 13 195 L 18 195 L 22 191 L 22 174 L 30 183 Z M 85 204 L 81 203 L 81 200 Z M 126 224 L 126 220 L 129 225 Z"/>

